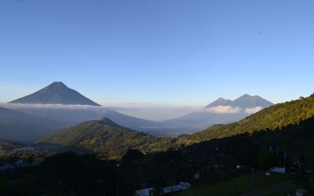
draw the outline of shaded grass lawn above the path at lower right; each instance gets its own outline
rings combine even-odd
[[[289,181],[288,174],[272,172],[269,177],[265,173],[255,173],[255,189]],[[238,196],[252,191],[252,174],[243,174],[214,184],[191,187],[175,196]]]

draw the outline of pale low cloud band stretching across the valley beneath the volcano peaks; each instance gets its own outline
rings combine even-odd
[[[31,113],[31,109],[69,109],[69,110],[86,110],[94,111],[99,115],[103,115],[106,111],[117,111],[125,115],[153,120],[163,121],[189,114],[191,112],[207,112],[216,114],[236,114],[244,112],[254,114],[262,107],[246,108],[233,106],[216,106],[216,107],[187,107],[187,106],[171,106],[171,105],[139,105],[139,104],[120,104],[116,106],[92,106],[92,105],[62,105],[62,104],[23,104],[23,103],[0,103],[0,107]]]

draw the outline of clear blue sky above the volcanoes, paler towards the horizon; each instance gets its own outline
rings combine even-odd
[[[314,92],[313,0],[0,0],[0,102],[53,81],[103,105]]]

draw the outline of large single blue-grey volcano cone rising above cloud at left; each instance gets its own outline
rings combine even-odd
[[[70,89],[62,82],[52,82],[50,85],[33,94],[18,98],[8,103],[101,106],[91,99],[82,96],[76,90]]]

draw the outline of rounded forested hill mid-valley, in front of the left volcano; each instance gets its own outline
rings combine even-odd
[[[76,124],[37,143],[83,147],[101,152],[105,157],[114,158],[122,156],[131,148],[139,149],[144,153],[167,150],[173,147],[174,139],[153,137],[104,118]]]

